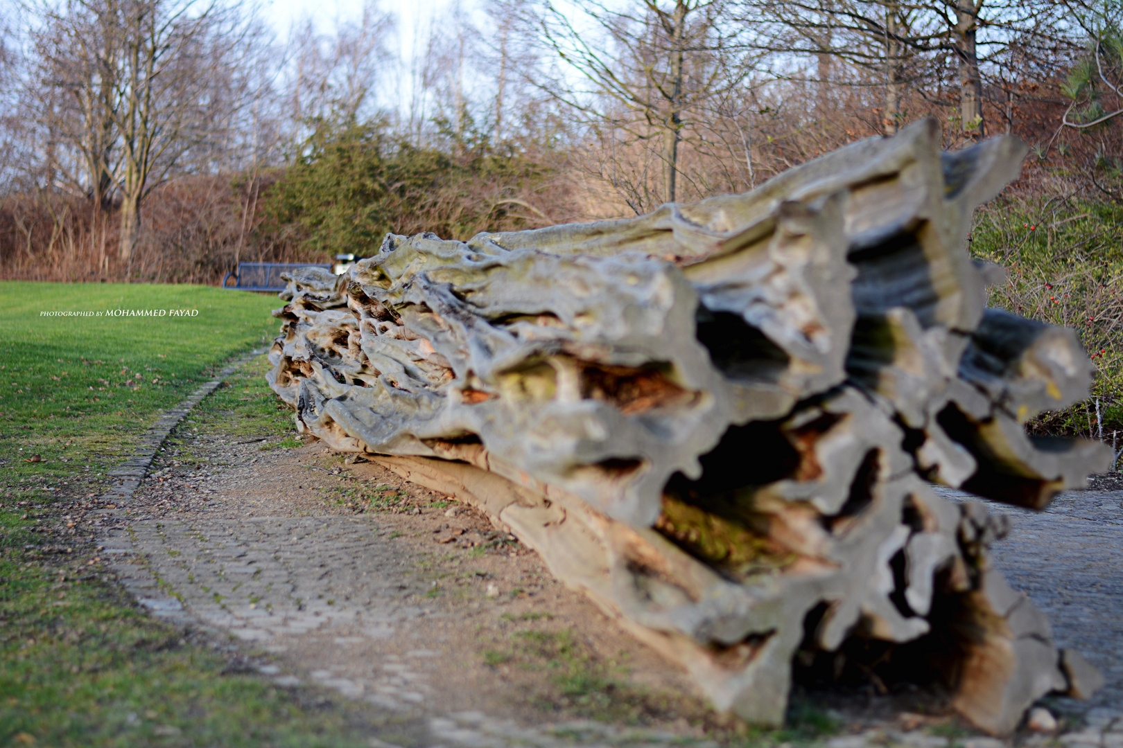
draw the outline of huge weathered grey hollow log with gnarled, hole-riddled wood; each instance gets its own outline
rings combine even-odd
[[[939,144],[921,122],[632,220],[387,236],[292,275],[270,381],[300,431],[510,528],[721,710],[779,723],[794,662],[868,669],[856,643],[884,643],[1008,732],[1095,672],[989,566],[1002,523],[925,479],[1042,508],[1110,450],[1024,434],[1089,364],[986,310],[1001,273],[964,249],[1024,148]]]

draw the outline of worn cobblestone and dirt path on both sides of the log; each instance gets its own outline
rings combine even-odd
[[[276,449],[203,410],[102,523],[102,556],[154,613],[231,637],[247,666],[283,687],[366,702],[383,726],[373,746],[737,739],[683,695],[685,677],[483,517],[373,463],[344,464],[318,444]],[[1090,704],[1050,702],[1077,748],[1123,748],[1121,496],[1067,495],[1056,511],[1020,514],[996,548],[1059,643],[1108,677]],[[948,715],[902,720],[894,709],[907,698],[887,703],[797,700],[795,731],[752,742],[998,746]],[[911,711],[924,709],[917,695]]]

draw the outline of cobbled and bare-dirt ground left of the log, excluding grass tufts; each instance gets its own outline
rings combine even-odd
[[[503,673],[482,647],[531,625],[546,637],[574,626],[592,634],[604,620],[482,517],[381,472],[373,480],[409,495],[403,506],[413,508],[351,514],[309,498],[337,496],[354,481],[322,467],[338,463],[322,447],[261,454],[257,444],[185,438],[197,453],[210,451],[212,467],[157,458],[139,489],[104,516],[102,556],[154,615],[232,637],[277,685],[327,687],[396,715],[396,731],[372,745],[715,745],[685,721],[637,729],[550,714],[518,698],[520,678],[542,674]],[[496,535],[497,547],[472,553],[468,538]],[[439,543],[447,537],[462,543]],[[633,648],[631,665],[657,673],[659,687],[686,687],[622,634],[603,640],[613,653]]]

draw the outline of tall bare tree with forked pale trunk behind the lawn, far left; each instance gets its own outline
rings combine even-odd
[[[119,257],[128,261],[153,187],[192,158],[212,161],[236,113],[254,102],[238,95],[238,71],[257,62],[261,27],[199,0],[66,0],[33,10],[48,142],[76,155],[69,182],[86,179],[95,206],[111,193],[119,201]]]

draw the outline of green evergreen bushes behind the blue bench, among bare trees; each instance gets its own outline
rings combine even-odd
[[[495,155],[471,131],[449,140],[417,148],[382,122],[321,122],[270,190],[263,236],[366,257],[391,232],[467,239],[548,222],[518,197],[545,186],[553,169],[541,159]]]

